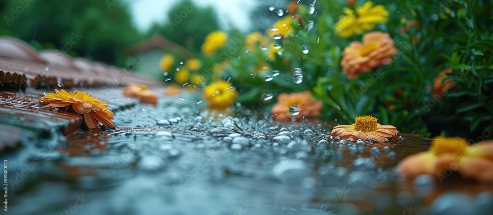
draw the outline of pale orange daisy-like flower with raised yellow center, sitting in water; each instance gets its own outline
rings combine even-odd
[[[354,118],[354,124],[337,125],[332,128],[330,135],[341,139],[372,140],[378,143],[387,142],[399,134],[392,125],[381,125],[377,118],[372,116],[359,116]]]

